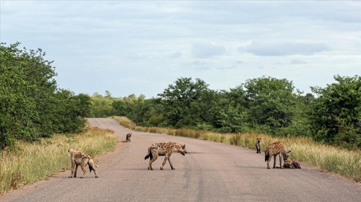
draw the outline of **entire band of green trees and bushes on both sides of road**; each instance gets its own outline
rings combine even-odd
[[[335,75],[327,87],[304,94],[292,81],[262,76],[229,90],[178,78],[156,98],[75,95],[59,89],[53,61],[41,49],[0,44],[0,149],[17,140],[81,132],[85,117],[127,116],[141,126],[220,133],[312,137],[325,144],[361,148],[361,77]]]

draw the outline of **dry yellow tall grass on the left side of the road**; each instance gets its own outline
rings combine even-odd
[[[32,144],[19,141],[0,152],[0,194],[69,168],[69,148],[94,157],[114,149],[117,140],[111,130],[90,128],[86,133],[57,134]]]

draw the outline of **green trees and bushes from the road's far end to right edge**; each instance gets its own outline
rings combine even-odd
[[[310,137],[348,150],[361,149],[361,77],[335,76],[326,88],[295,90],[291,81],[249,79],[228,91],[213,91],[200,80],[180,78],[145,99],[91,97],[98,117],[126,116],[139,126],[206,130],[216,133],[263,133],[273,138]],[[113,112],[108,113],[109,107]],[[102,112],[101,109],[104,109]]]

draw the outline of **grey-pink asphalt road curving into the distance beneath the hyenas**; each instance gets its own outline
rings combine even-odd
[[[48,180],[0,196],[1,202],[360,202],[361,184],[318,171],[267,169],[264,154],[237,146],[135,132],[109,118],[89,119],[91,126],[113,130],[120,140],[132,132],[131,143],[95,157],[99,165],[85,178],[68,178],[70,170]],[[173,153],[164,170],[164,157],[148,170],[148,147],[157,142],[185,144],[187,154]],[[278,160],[278,159],[277,159]],[[273,160],[271,161],[271,163]],[[87,167],[88,169],[88,167]],[[88,170],[89,171],[89,170]],[[78,170],[78,176],[82,174]]]

